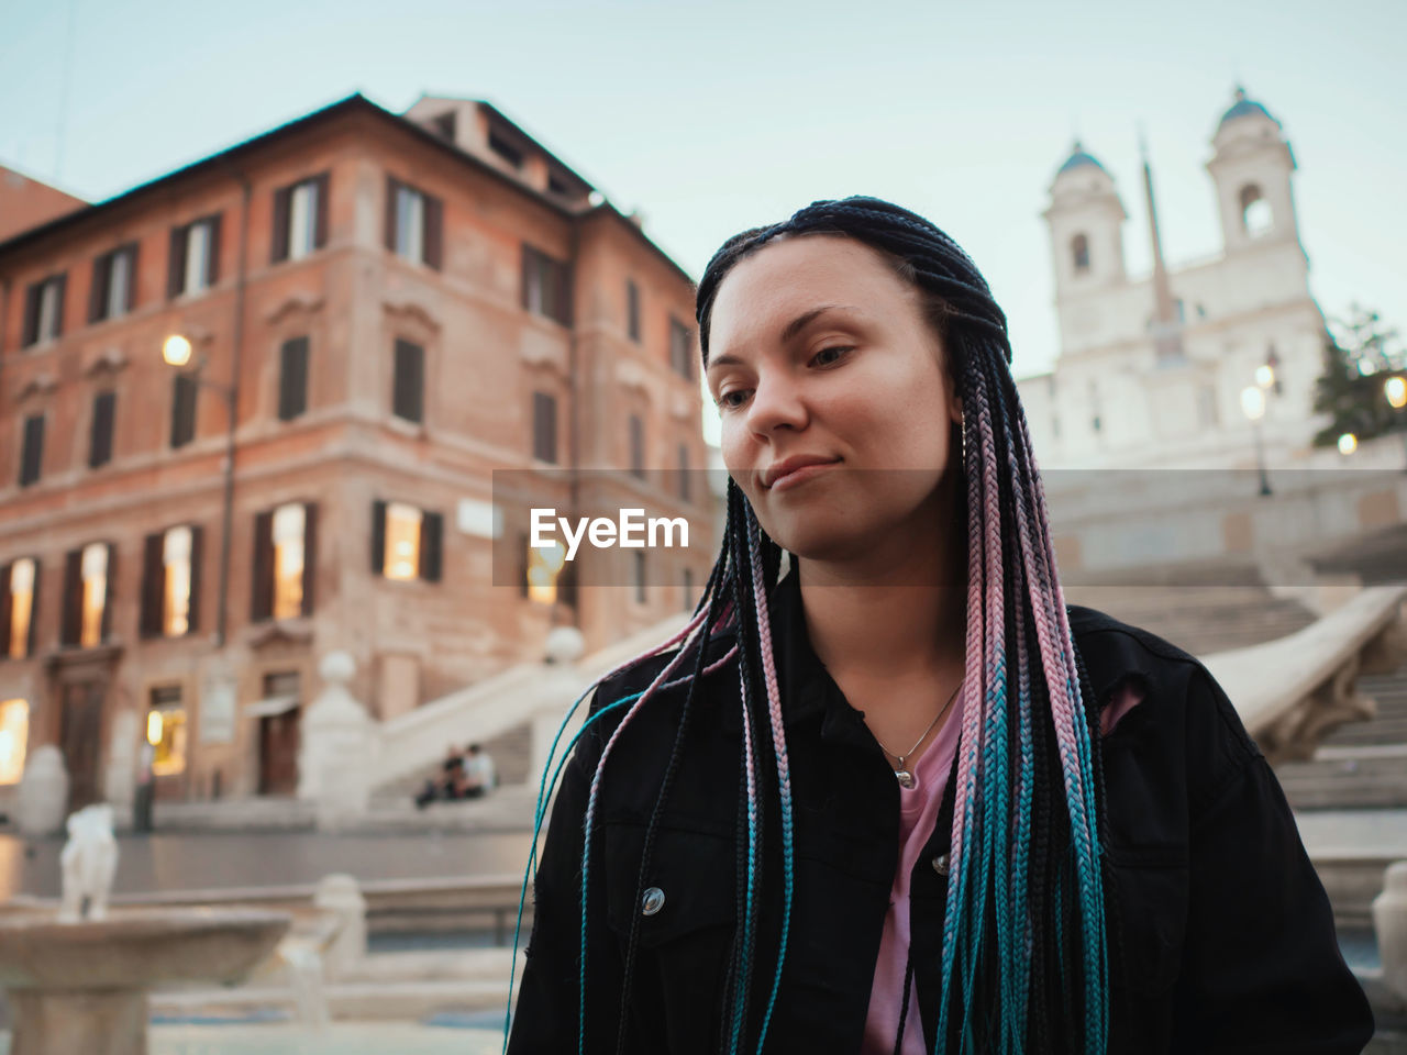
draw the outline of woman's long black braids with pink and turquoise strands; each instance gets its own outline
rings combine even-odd
[[[954,776],[934,1052],[1103,1055],[1110,1017],[1110,938],[1116,952],[1119,942],[1117,913],[1106,913],[1114,900],[1113,875],[1100,838],[1107,833],[1107,821],[1099,703],[1069,629],[1044,488],[1010,374],[1006,316],[967,253],[927,219],[872,197],[815,201],[787,221],[734,235],[713,255],[698,286],[696,318],[705,366],[712,305],[727,273],[777,238],[806,235],[860,241],[879,250],[919,290],[962,397],[968,520],[967,658],[961,689],[965,706]],[[726,512],[722,547],[689,622],[670,641],[608,677],[674,646],[678,651],[643,692],[591,716],[594,722],[606,712],[628,708],[601,753],[585,812],[581,1045],[588,865],[595,805],[612,747],[661,685],[688,682],[678,733],[646,829],[636,889],[639,903],[658,820],[680,755],[688,747],[698,684],[702,675],[733,660],[740,684],[744,764],[737,813],[739,912],[719,1049],[727,1055],[749,1048],[761,1052],[771,1025],[787,961],[795,841],[767,605],[781,565],[781,547],[763,530],[732,478]],[[727,633],[736,634],[734,647],[705,668],[709,641]],[[685,665],[692,667],[692,674],[681,678],[675,671]],[[771,765],[764,765],[767,760]],[[777,795],[775,812],[764,809],[768,792]],[[539,824],[542,814],[539,803]],[[775,833],[764,831],[768,817],[777,819]],[[758,986],[753,961],[764,836],[781,843],[782,913],[775,969]],[[622,1025],[639,941],[637,916],[625,957]],[[905,1011],[908,993],[906,978]],[[749,1024],[758,1021],[750,1010],[756,1000],[765,1002],[765,1007],[754,1035],[749,1034]],[[902,1030],[900,1024],[899,1040]],[[618,1055],[623,1042],[622,1028]],[[584,1049],[578,1051],[584,1055]]]

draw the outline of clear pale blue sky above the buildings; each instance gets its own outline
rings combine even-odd
[[[1285,125],[1311,290],[1407,331],[1407,1],[1078,4],[0,0],[0,163],[103,200],[362,91],[487,98],[695,279],[729,235],[877,194],[951,234],[1010,318],[1058,338],[1040,212],[1078,132],[1151,270],[1216,253],[1203,167],[1240,80]]]

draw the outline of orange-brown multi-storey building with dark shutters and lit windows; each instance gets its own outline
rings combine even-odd
[[[640,226],[477,101],[353,96],[0,242],[0,784],[56,744],[72,806],[127,803],[151,743],[160,799],[291,795],[332,650],[388,720],[553,623],[592,650],[692,605],[691,321]],[[694,544],[577,588],[495,470]]]

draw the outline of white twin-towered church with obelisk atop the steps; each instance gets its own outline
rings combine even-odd
[[[1044,218],[1061,352],[1050,373],[1019,381],[1044,466],[1255,466],[1248,387],[1261,390],[1266,460],[1311,459],[1325,324],[1300,243],[1294,156],[1280,122],[1240,89],[1211,146],[1221,252],[1164,262],[1145,162],[1147,277],[1126,269],[1128,212],[1113,176],[1081,143],[1057,172]]]

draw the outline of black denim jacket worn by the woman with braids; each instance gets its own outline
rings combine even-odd
[[[795,885],[787,961],[768,1052],[857,1052],[899,848],[893,769],[806,636],[796,575],[774,589],[772,637],[791,760]],[[1145,698],[1103,738],[1110,854],[1121,917],[1112,979],[1110,1052],[1349,1055],[1373,1032],[1344,964],[1334,919],[1290,807],[1263,755],[1207,670],[1183,650],[1089,608],[1071,630],[1100,701],[1126,678]],[[732,647],[715,641],[709,663]],[[673,656],[673,653],[670,654]],[[654,657],[604,682],[592,713],[646,688]],[[675,671],[678,677],[681,671]],[[636,903],[644,830],[687,686],[657,692],[606,761],[592,826],[585,1051],[694,1055],[719,1049],[736,913],[734,823],[741,724],[739,674],[704,679],[689,737]],[[535,920],[511,1055],[575,1052],[582,817],[591,776],[620,715],[601,719],[563,769],[533,888]],[[912,876],[912,954],[926,1047],[937,1028],[938,964],[953,784]],[[763,899],[751,1000],[757,1035],[781,926],[775,779],[768,793]],[[622,1020],[623,954],[640,928]],[[757,996],[757,995],[761,996]]]

